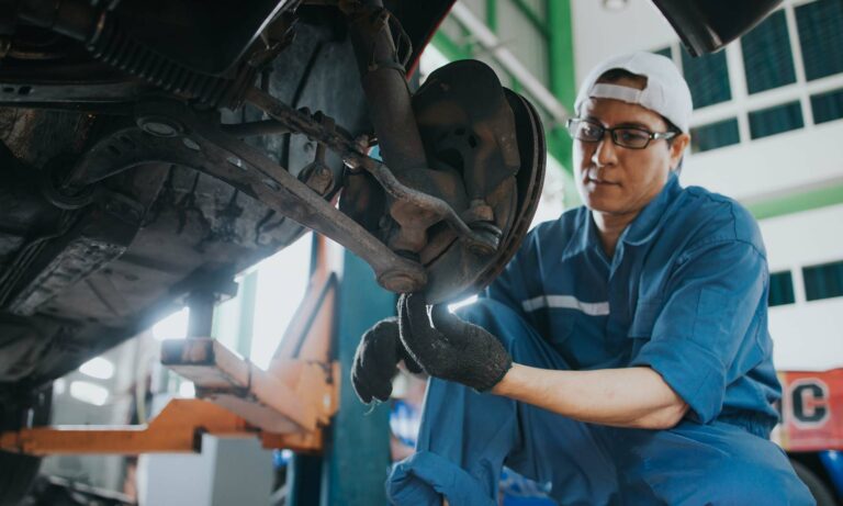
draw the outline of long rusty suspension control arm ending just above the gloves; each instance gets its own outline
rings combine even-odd
[[[259,149],[212,126],[207,119],[196,117],[183,104],[173,102],[138,108],[137,117],[147,128],[124,128],[93,146],[74,171],[76,176],[68,180],[69,192],[154,161],[190,167],[225,181],[347,247],[372,267],[379,283],[387,290],[406,292],[425,285],[426,274],[422,266],[395,255]],[[142,121],[149,117],[158,125],[155,132],[162,132],[166,124],[167,134],[176,131],[177,135],[153,135],[148,128],[150,122]],[[313,122],[310,116],[307,119]],[[318,123],[314,124],[321,128],[318,132],[328,132]]]

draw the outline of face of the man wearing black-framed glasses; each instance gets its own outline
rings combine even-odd
[[[634,86],[623,80],[621,86]],[[638,88],[638,87],[637,87]],[[580,117],[605,127],[637,126],[650,132],[667,132],[661,115],[638,104],[612,99],[591,99],[583,103]],[[653,200],[678,164],[687,136],[653,139],[644,149],[616,146],[606,133],[597,143],[574,140],[577,190],[588,209],[609,215],[637,215]]]

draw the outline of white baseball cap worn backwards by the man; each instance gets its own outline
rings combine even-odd
[[[597,82],[609,70],[622,69],[647,78],[643,90],[626,86]],[[682,132],[688,132],[690,101],[688,83],[670,58],[653,53],[632,53],[604,60],[592,70],[580,87],[580,94],[574,102],[574,111],[588,99],[615,99],[637,103],[657,112],[676,125]]]

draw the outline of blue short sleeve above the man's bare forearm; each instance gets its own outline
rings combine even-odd
[[[650,340],[630,366],[651,367],[688,403],[692,416],[715,419],[741,344],[757,339],[767,276],[764,255],[749,241],[709,241],[683,254]],[[645,311],[641,301],[639,310]]]

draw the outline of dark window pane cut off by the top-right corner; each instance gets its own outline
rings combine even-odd
[[[810,81],[843,71],[843,0],[817,0],[796,8],[805,76]]]

